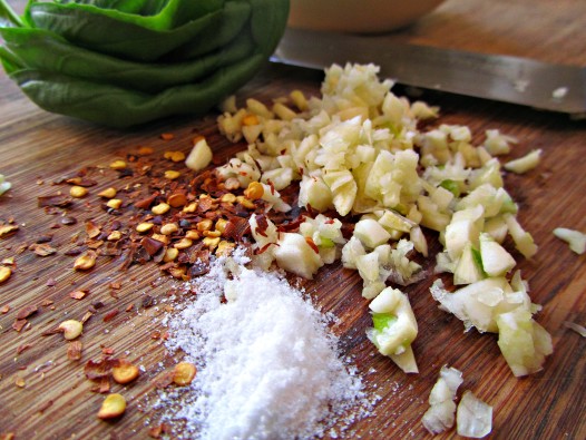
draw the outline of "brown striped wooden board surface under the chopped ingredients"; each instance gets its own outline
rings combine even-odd
[[[23,1],[11,3],[22,7]],[[580,0],[447,1],[397,39],[494,53],[528,56],[546,61],[586,66],[586,3]],[[375,61],[375,60],[373,60]],[[321,75],[271,66],[240,95],[270,100],[302,88],[318,94]],[[586,271],[584,255],[572,253],[555,238],[558,226],[586,231],[584,178],[586,125],[563,115],[539,113],[511,105],[430,94],[424,99],[441,106],[439,123],[466,124],[480,141],[484,130],[498,128],[516,136],[519,145],[510,157],[534,148],[544,151],[539,167],[526,175],[507,174],[506,187],[519,202],[519,219],[539,244],[531,261],[519,267],[529,282],[534,302],[544,305],[537,320],[553,335],[555,353],[545,369],[516,379],[499,353],[496,338],[462,332],[462,324],[438,310],[429,294],[432,277],[406,289],[420,333],[414,342],[420,373],[406,375],[388,359],[375,353],[364,331],[370,325],[367,304],[360,296],[361,281],[334,265],[324,267],[306,287],[326,311],[341,317],[336,327],[344,350],[353,354],[364,382],[377,385],[382,397],[375,414],[355,423],[359,438],[430,438],[420,423],[427,397],[443,364],[463,372],[462,388],[473,391],[494,407],[492,439],[584,439],[586,438],[586,350],[565,321],[586,323]],[[30,104],[6,77],[0,78],[0,173],[13,188],[0,198],[0,221],[13,221],[19,231],[0,241],[0,261],[14,258],[14,273],[0,284],[0,438],[16,439],[143,439],[147,422],[156,423],[150,403],[153,383],[164,366],[175,360],[165,353],[157,335],[164,331],[155,321],[162,307],[145,309],[145,296],[165,297],[169,284],[160,280],[156,265],[135,265],[127,272],[100,257],[90,272],[72,270],[74,257],[65,255],[71,236],[84,234],[84,219],[102,221],[107,214],[91,194],[67,209],[78,219],[64,225],[60,216],[37,206],[38,196],[68,190],[53,185],[82,167],[107,167],[120,154],[149,146],[155,154],[191,148],[194,131],[208,136],[216,156],[226,158],[236,147],[216,133],[215,115],[201,119],[160,121],[140,129],[119,131],[47,114]],[[173,133],[165,141],[162,133]],[[92,168],[100,187],[111,183],[106,170]],[[131,177],[128,184],[141,182]],[[56,227],[59,225],[59,227]],[[56,253],[38,256],[29,245],[51,235]],[[439,245],[429,234],[432,250]],[[432,262],[428,263],[431,267]],[[113,284],[114,283],[114,284]],[[113,289],[116,283],[119,289]],[[87,290],[84,300],[69,293]],[[68,317],[80,319],[91,303],[102,303],[86,323],[82,358],[67,359],[68,344],[60,335],[42,336]],[[38,307],[20,332],[12,329],[26,306]],[[113,311],[119,311],[115,316]],[[105,320],[105,317],[110,320]],[[102,397],[90,391],[84,364],[99,360],[104,350],[126,354],[144,366],[139,380],[127,387],[114,385],[129,400],[123,419],[108,423],[96,418]],[[374,373],[370,372],[374,369]],[[439,438],[456,438],[449,432]]]

